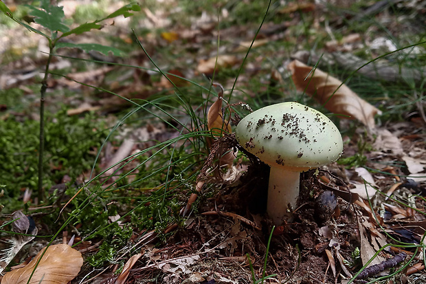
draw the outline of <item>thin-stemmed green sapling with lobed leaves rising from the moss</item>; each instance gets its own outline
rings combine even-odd
[[[40,6],[30,6],[25,5],[30,9],[30,16],[34,17],[34,22],[41,25],[44,29],[37,30],[32,28],[30,25],[23,23],[19,19],[16,19],[8,6],[5,5],[2,1],[0,1],[0,10],[6,16],[10,17],[16,23],[19,23],[23,27],[27,28],[31,32],[35,32],[47,39],[49,41],[49,58],[47,58],[47,63],[45,65],[45,76],[41,81],[41,90],[40,90],[40,131],[39,131],[39,148],[38,148],[38,200],[43,201],[44,199],[44,191],[43,191],[43,154],[44,154],[44,146],[45,146],[45,127],[44,127],[44,102],[45,102],[45,93],[47,90],[47,78],[49,76],[49,65],[54,56],[54,51],[60,47],[76,47],[84,50],[86,52],[91,50],[96,50],[98,52],[102,52],[103,54],[109,54],[112,52],[116,56],[122,55],[122,52],[115,47],[109,47],[105,45],[100,45],[98,43],[65,43],[60,41],[66,36],[70,36],[72,34],[83,34],[85,32],[89,32],[91,30],[100,30],[102,25],[100,23],[106,19],[112,19],[118,16],[130,17],[133,14],[131,11],[139,11],[140,7],[137,3],[130,3],[122,8],[116,10],[115,12],[109,14],[108,16],[93,21],[91,23],[83,23],[79,25],[77,28],[71,28],[67,25],[65,21],[65,14],[63,11],[63,7],[54,6],[50,3],[49,0],[41,0]]]

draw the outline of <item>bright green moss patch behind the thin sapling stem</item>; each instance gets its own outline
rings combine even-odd
[[[6,212],[14,210],[22,188],[37,188],[38,135],[36,120],[15,116],[0,120],[0,176]],[[46,113],[44,188],[60,183],[64,175],[74,180],[88,171],[95,160],[93,151],[104,137],[103,124],[91,113],[84,118],[69,117],[65,109]]]

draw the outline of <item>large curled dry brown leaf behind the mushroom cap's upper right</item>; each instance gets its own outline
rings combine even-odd
[[[306,94],[342,118],[357,119],[369,129],[374,129],[374,116],[381,114],[381,111],[359,98],[348,86],[341,85],[340,80],[297,60],[289,64],[289,69],[299,91],[306,91]]]

